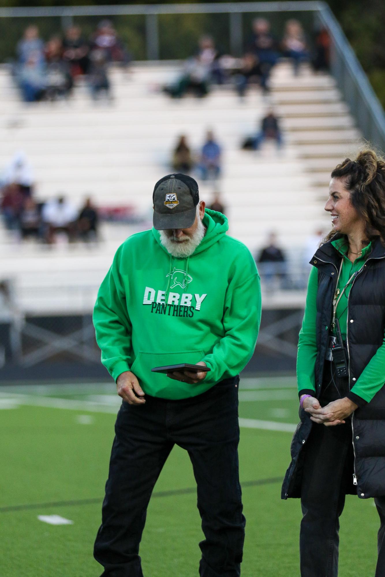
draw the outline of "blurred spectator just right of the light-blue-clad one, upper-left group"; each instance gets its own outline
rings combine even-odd
[[[73,86],[68,62],[63,60],[63,44],[61,38],[53,36],[48,40],[45,48],[47,62],[46,97],[55,100],[61,96],[68,96]]]

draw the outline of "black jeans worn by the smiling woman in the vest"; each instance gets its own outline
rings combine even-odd
[[[335,384],[331,379],[331,364],[326,361],[321,406],[342,398],[349,390],[347,379],[334,377],[334,381]],[[357,494],[353,485],[351,419],[346,419],[345,425],[332,427],[314,423],[305,451],[301,487],[301,577],[337,577],[339,516],[346,494]],[[380,515],[375,577],[385,577],[385,497],[376,498],[375,503]]]

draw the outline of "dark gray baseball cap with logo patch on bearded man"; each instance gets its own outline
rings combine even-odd
[[[154,187],[154,228],[189,228],[199,203],[197,182],[186,174],[167,174]]]

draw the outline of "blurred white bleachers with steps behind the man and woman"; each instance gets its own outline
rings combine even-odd
[[[289,255],[298,253],[324,215],[330,171],[354,153],[360,134],[334,80],[289,63],[275,67],[271,94],[256,87],[244,101],[230,87],[214,87],[204,99],[171,100],[160,87],[177,76],[178,63],[137,63],[132,72],[111,71],[113,102],[94,103],[85,85],[69,102],[20,102],[7,70],[0,70],[0,169],[23,149],[36,176],[36,196],[64,193],[78,207],[129,205],[151,223],[154,183],[171,172],[171,150],[186,134],[197,151],[205,131],[223,146],[218,182],[230,234],[256,252],[275,230]],[[268,107],[281,117],[285,145],[267,143],[241,151]],[[199,179],[198,179],[199,180]],[[210,203],[213,187],[199,182]],[[29,314],[89,312],[119,243],[138,226],[103,224],[98,246],[18,243],[0,224],[0,279],[16,286],[17,303]]]

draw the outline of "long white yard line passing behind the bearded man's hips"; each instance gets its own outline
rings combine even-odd
[[[116,406],[111,406],[102,402],[91,402],[88,400],[72,400],[72,399],[58,399],[53,397],[41,397],[34,395],[6,395],[0,393],[3,398],[7,396],[14,404],[34,406],[34,407],[48,407],[51,409],[69,409],[73,411],[88,411],[89,413],[109,413],[117,414],[120,402],[117,398]],[[246,429],[264,429],[273,431],[283,431],[292,433],[296,430],[296,425],[291,423],[280,423],[276,421],[260,421],[259,419],[239,419],[240,426]]]

